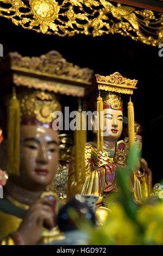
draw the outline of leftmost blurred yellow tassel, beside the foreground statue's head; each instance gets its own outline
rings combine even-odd
[[[19,175],[20,169],[20,102],[15,92],[8,109],[8,174]]]

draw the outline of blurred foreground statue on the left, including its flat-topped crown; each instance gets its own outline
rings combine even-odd
[[[59,60],[63,65],[58,66]],[[32,58],[9,53],[0,66],[4,72],[1,84],[5,85],[1,124],[9,175],[0,204],[0,245],[63,239],[57,227],[57,195],[47,191],[59,162],[59,132],[53,129],[53,113],[61,111],[60,94],[84,96],[92,71],[67,63],[56,51]],[[85,72],[86,78],[82,78]]]

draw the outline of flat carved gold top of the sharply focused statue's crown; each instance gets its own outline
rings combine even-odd
[[[138,82],[137,80],[123,77],[119,72],[115,72],[110,76],[96,75],[96,81],[99,90],[124,94],[133,94]]]

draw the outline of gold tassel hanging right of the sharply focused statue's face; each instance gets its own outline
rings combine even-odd
[[[129,139],[129,149],[135,143],[135,129],[134,129],[134,106],[133,102],[128,102],[128,139]]]

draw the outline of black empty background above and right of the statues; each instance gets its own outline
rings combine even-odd
[[[143,125],[142,156],[152,170],[153,183],[163,178],[163,57],[159,57],[158,47],[112,34],[96,38],[43,35],[17,27],[2,17],[0,32],[4,56],[9,51],[17,51],[22,56],[40,56],[57,50],[68,62],[89,67],[95,74],[110,75],[118,71],[124,77],[139,80],[133,102],[135,120]],[[128,99],[128,96],[124,99],[124,115],[127,115]]]

